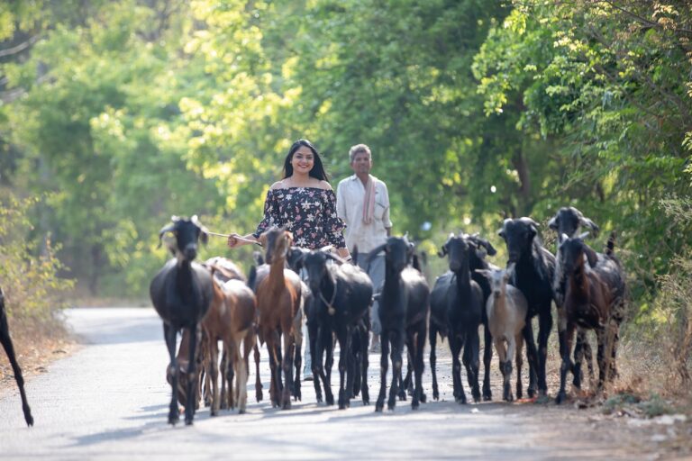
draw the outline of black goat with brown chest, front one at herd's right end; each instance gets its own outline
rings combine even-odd
[[[625,277],[620,261],[615,258],[615,235],[607,243],[605,255],[597,255],[583,240],[562,236],[560,259],[567,277],[564,317],[560,392],[556,402],[564,402],[565,378],[570,368],[569,353],[577,326],[596,330],[598,341],[598,388],[614,377],[615,338],[624,312]],[[591,267],[588,268],[587,264]],[[577,370],[578,374],[578,370]]]

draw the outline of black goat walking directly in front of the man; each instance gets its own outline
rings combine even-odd
[[[391,345],[392,384],[387,408],[394,410],[397,385],[401,380],[404,342],[414,363],[414,395],[411,407],[418,408],[423,398],[423,348],[430,312],[430,288],[420,271],[407,267],[413,256],[413,244],[405,237],[389,237],[387,243],[370,251],[374,258],[385,251],[385,283],[379,296],[379,319],[382,323],[380,343],[380,388],[375,411],[382,411],[387,393],[387,354]]]

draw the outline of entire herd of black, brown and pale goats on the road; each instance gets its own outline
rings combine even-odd
[[[421,272],[414,245],[406,237],[389,237],[369,253],[368,258],[373,258],[384,252],[386,261],[384,284],[373,287],[356,261],[346,263],[326,249],[292,246],[291,233],[276,227],[260,236],[259,244],[265,253],[256,256],[256,266],[250,268],[247,278],[226,258],[211,258],[199,264],[195,262],[197,245],[200,240],[206,242],[207,230],[196,216],[174,216],[171,221],[159,231],[159,241],[168,233],[172,235],[166,243],[174,258],[168,260],[150,285],[151,302],[163,320],[170,360],[170,424],[179,420],[178,402],[185,407],[186,424],[192,424],[203,396],[212,415],[222,408],[244,412],[251,351],[255,359],[255,397],[261,401],[259,344],[266,344],[269,352],[270,401],[274,407],[290,408],[292,399],[301,399],[304,322],[317,402],[323,402],[324,395],[327,404],[334,403],[331,375],[338,341],[339,408],[349,407],[351,399],[359,394],[362,402],[368,404],[369,309],[375,299],[382,324],[376,411],[383,410],[387,397],[390,359],[387,408],[394,410],[396,400],[405,400],[406,393],[411,395],[413,409],[425,402],[422,380],[426,337],[430,342],[434,400],[440,397],[436,375],[438,336],[446,338],[450,346],[456,402],[467,402],[461,363],[474,402],[492,399],[492,344],[499,357],[505,401],[514,399],[513,357],[516,398],[522,398],[524,393],[524,343],[529,365],[528,396],[546,395],[552,303],[557,306],[561,357],[556,402],[566,399],[568,372],[573,375],[573,385],[580,388],[583,361],[586,360],[593,377],[586,330],[596,331],[596,388],[602,388],[617,374],[615,356],[626,298],[624,270],[614,254],[614,234],[604,253],[591,249],[585,241],[589,232],[580,232],[588,228],[596,234],[598,227],[574,207],[561,208],[549,222],[558,235],[556,255],[537,238],[535,221],[506,219],[499,231],[508,255],[505,268],[487,261],[487,256],[496,254],[487,240],[478,235],[451,234],[439,252],[441,258],[448,258],[449,271],[437,277],[432,290]],[[32,425],[3,301],[0,291],[0,339],[20,387],[25,420]],[[536,315],[538,348],[532,326]],[[478,384],[481,325],[485,339],[482,389]],[[176,350],[180,331],[182,339]],[[219,341],[223,344],[222,357]],[[408,363],[405,377],[404,352]]]

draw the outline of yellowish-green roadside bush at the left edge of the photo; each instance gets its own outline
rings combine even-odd
[[[59,245],[53,247],[50,238],[41,240],[32,232],[29,216],[39,203],[0,189],[0,286],[10,318],[50,321],[60,307],[60,294],[73,285],[58,276],[64,268],[56,257]]]

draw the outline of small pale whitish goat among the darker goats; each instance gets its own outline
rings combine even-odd
[[[477,269],[479,274],[487,276],[492,295],[487,298],[487,325],[493,337],[493,343],[500,359],[500,372],[503,376],[503,399],[514,400],[512,395],[512,357],[516,357],[516,393],[522,394],[522,348],[524,347],[524,323],[528,303],[519,289],[508,285],[514,264],[507,269]],[[505,347],[506,342],[506,347]]]

